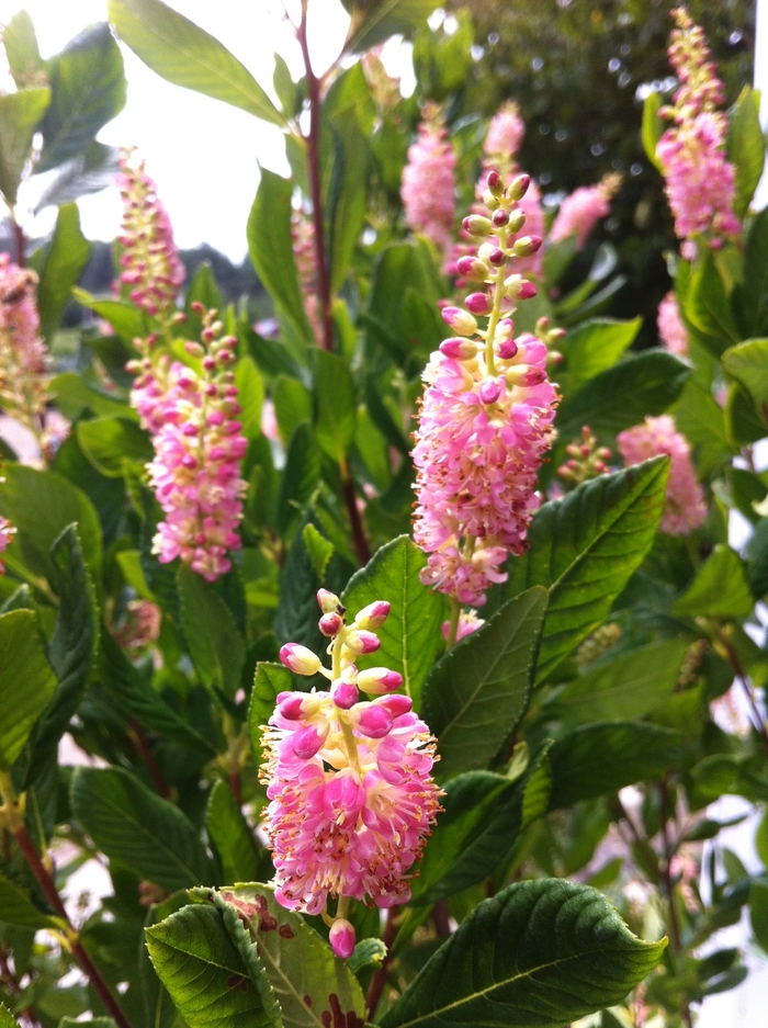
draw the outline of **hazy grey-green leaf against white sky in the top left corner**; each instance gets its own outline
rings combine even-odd
[[[86,149],[125,106],[123,55],[106,22],[83,30],[46,61],[50,105],[39,126],[35,171],[50,171]]]

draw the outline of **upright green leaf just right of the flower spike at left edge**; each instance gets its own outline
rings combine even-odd
[[[77,284],[88,263],[90,252],[91,245],[80,231],[77,204],[60,206],[37,290],[41,331],[45,339],[53,339],[59,327],[64,308],[71,297],[72,286]]]

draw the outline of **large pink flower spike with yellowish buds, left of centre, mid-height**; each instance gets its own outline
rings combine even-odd
[[[203,320],[203,344],[187,343],[196,366],[166,354],[153,360],[150,338],[144,359],[128,364],[138,372],[131,403],[153,433],[155,460],[147,471],[165,513],[153,553],[163,564],[180,557],[215,581],[231,567],[228,551],[241,545],[237,529],[247,484],[240,460],[248,441],[237,420],[240,406],[229,370],[237,341],[222,336],[216,310],[202,304],[193,310]]]

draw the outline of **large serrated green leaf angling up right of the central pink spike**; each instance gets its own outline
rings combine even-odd
[[[537,680],[603,622],[651,549],[664,510],[668,461],[655,457],[585,482],[537,511],[531,549],[509,568],[508,591],[550,591]]]

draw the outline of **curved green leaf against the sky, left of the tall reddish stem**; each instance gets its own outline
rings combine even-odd
[[[248,217],[248,252],[264,286],[303,339],[313,339],[304,312],[291,237],[293,183],[261,169],[261,181]]]

